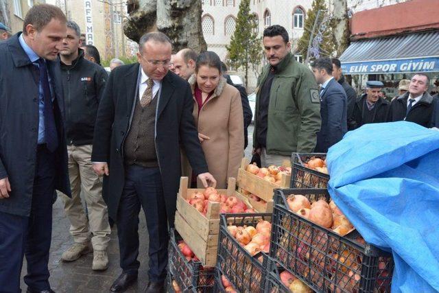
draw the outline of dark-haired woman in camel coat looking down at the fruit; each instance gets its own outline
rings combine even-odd
[[[217,180],[217,188],[225,189],[229,177],[237,178],[244,156],[241,96],[222,77],[221,60],[211,51],[198,56],[189,84],[194,103],[193,118],[209,172]],[[190,167],[184,173],[190,175]],[[198,182],[198,188],[201,187]]]

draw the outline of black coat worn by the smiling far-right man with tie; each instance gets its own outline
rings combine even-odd
[[[410,121],[420,126],[429,127],[431,124],[431,114],[434,110],[434,101],[433,97],[427,92],[423,94],[420,98],[419,102],[414,104],[410,112],[405,117],[405,113],[407,112],[407,99],[410,93],[407,92],[403,95],[400,95],[390,104],[390,111],[387,118],[387,121]]]

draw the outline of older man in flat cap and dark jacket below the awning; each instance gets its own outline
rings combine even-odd
[[[366,93],[355,102],[352,129],[368,123],[382,123],[387,119],[390,103],[379,96],[384,84],[379,81],[366,82]]]

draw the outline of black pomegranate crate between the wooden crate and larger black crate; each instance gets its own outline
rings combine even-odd
[[[271,213],[230,213],[220,215],[219,241],[216,268],[233,284],[237,292],[264,292],[268,256],[258,253],[252,257],[237,240],[228,233],[228,224],[256,226],[259,220],[271,222]],[[261,261],[259,260],[261,258]]]

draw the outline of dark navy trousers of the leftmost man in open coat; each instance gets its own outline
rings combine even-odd
[[[24,280],[29,290],[49,290],[49,249],[54,196],[54,154],[38,145],[29,217],[0,212],[0,292],[17,292],[20,288],[23,256],[27,260]],[[14,187],[11,186],[11,189]],[[8,237],[6,237],[8,235]]]

